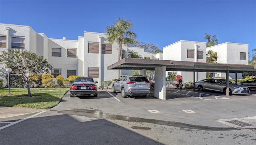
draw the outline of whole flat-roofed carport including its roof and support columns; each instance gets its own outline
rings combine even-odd
[[[108,70],[154,70],[155,71],[155,97],[166,99],[166,71],[194,72],[194,91],[196,72],[225,72],[228,80],[229,73],[256,73],[256,66],[241,64],[217,64],[202,62],[186,62],[172,60],[148,60],[137,58],[124,58],[110,66]],[[229,96],[229,84],[226,83],[226,96]]]

